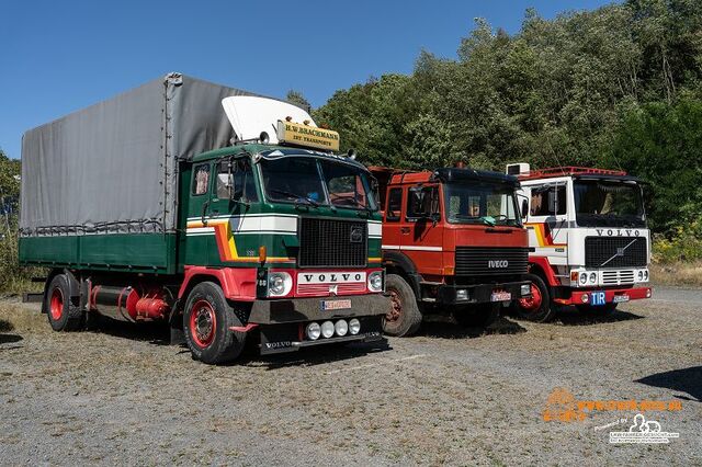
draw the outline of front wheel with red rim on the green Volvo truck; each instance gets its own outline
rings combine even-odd
[[[246,343],[245,332],[230,331],[241,326],[222,288],[213,282],[197,284],[185,303],[183,330],[193,358],[217,365],[236,360]]]

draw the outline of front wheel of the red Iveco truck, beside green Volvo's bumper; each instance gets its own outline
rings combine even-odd
[[[421,326],[421,311],[412,287],[397,274],[387,274],[385,289],[390,296],[390,309],[383,319],[383,331],[389,335],[411,335]]]

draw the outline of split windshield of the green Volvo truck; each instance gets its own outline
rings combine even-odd
[[[260,166],[270,201],[376,209],[369,175],[360,168],[313,157],[261,159]]]

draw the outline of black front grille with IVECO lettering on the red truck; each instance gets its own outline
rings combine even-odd
[[[525,274],[526,248],[456,247],[456,275]]]

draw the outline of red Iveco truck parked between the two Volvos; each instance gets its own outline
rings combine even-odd
[[[424,312],[449,310],[483,327],[529,297],[526,230],[514,176],[462,168],[370,168],[383,206],[383,264],[392,307],[384,330],[416,332]]]

